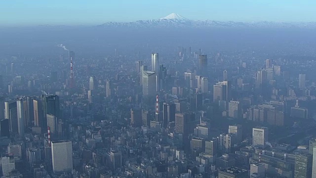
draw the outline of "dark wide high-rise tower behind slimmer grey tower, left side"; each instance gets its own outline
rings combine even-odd
[[[43,113],[43,129],[46,130],[47,127],[47,114],[52,114],[55,117],[60,117],[59,108],[59,96],[57,95],[41,95],[42,101],[42,113]]]

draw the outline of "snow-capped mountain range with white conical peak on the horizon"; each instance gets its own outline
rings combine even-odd
[[[154,20],[137,20],[134,22],[107,22],[98,27],[103,28],[316,28],[316,22],[234,22],[215,20],[190,20],[177,13],[171,13]]]

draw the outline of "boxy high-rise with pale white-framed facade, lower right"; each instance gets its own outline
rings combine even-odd
[[[268,141],[269,129],[266,127],[252,128],[252,145],[264,148]]]

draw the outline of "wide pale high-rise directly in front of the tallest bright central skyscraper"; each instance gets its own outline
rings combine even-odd
[[[143,71],[143,95],[156,95],[156,75],[155,71]]]

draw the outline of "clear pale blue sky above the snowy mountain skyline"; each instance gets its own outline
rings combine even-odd
[[[316,0],[0,0],[0,26],[93,25],[158,19],[316,21]]]

